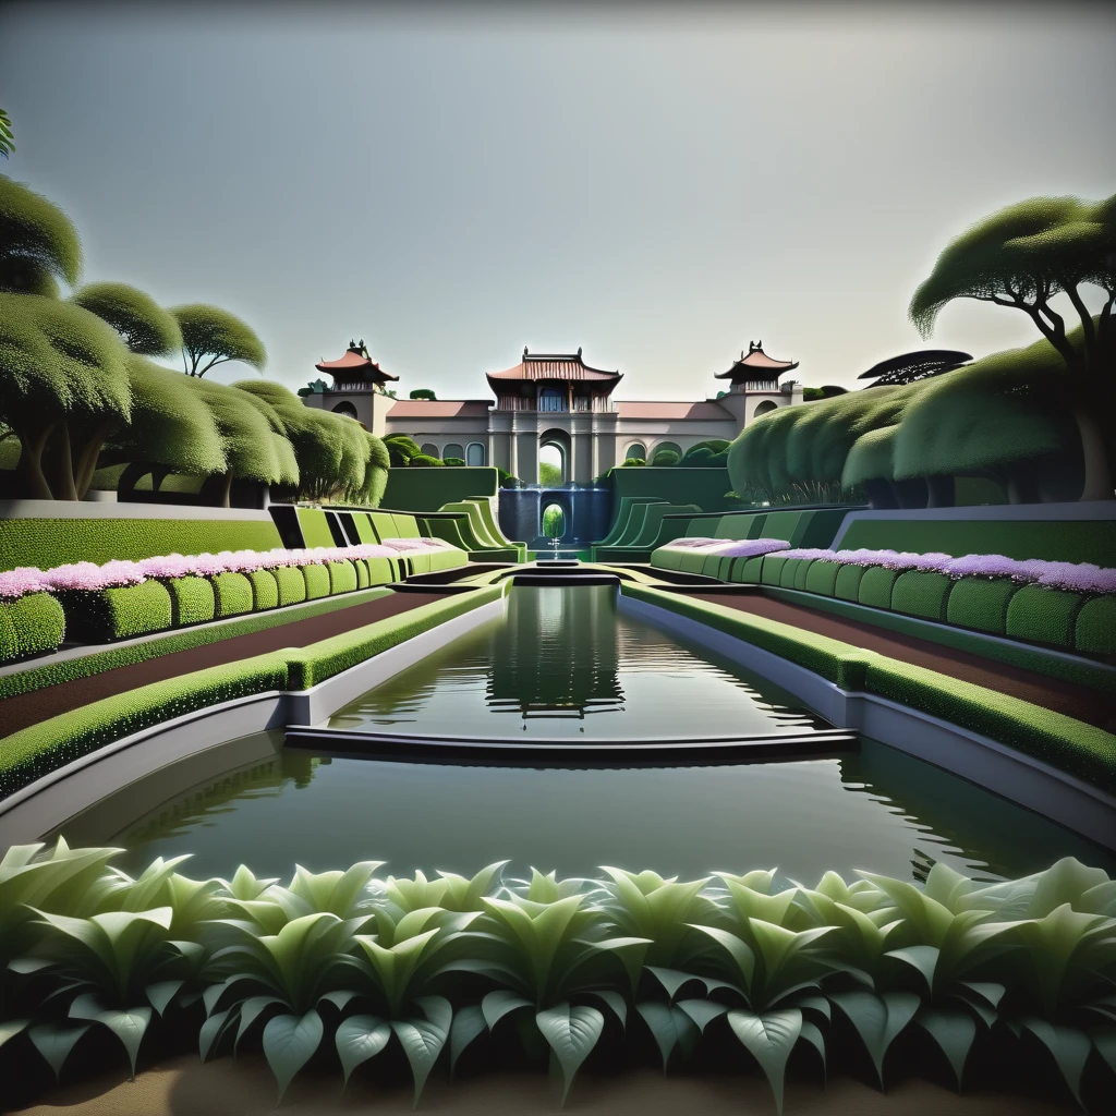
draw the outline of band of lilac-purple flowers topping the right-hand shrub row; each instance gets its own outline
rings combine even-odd
[[[762,541],[762,540],[760,540]],[[1008,577],[1020,585],[1042,585],[1074,593],[1116,593],[1116,569],[1089,562],[1043,561],[1041,558],[1006,558],[1003,555],[912,554],[897,550],[792,549],[780,557],[812,558],[849,566],[883,566],[885,569],[925,570],[951,578]]]

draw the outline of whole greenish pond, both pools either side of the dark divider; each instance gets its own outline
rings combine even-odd
[[[432,734],[483,722],[527,739],[825,727],[762,680],[617,615],[603,588],[517,588],[502,620],[334,722]],[[607,864],[687,877],[778,867],[805,883],[828,868],[920,879],[944,860],[1002,878],[1068,855],[1116,874],[1116,858],[1083,838],[872,740],[781,762],[570,770],[330,758],[261,733],[121,788],[61,833],[71,845],[124,846],[132,870],[193,853],[194,876],[229,876],[241,862],[289,876],[296,863],[324,870],[359,859],[395,874],[471,874],[510,858],[518,875]]]

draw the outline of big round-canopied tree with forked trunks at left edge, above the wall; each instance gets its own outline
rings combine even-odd
[[[0,294],[0,422],[19,437],[25,496],[76,500],[88,487],[98,432],[131,415],[126,356],[116,331],[79,306]]]

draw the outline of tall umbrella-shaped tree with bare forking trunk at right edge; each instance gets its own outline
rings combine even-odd
[[[1081,286],[1106,292],[1094,318]],[[1065,295],[1079,319],[1075,345],[1051,300]],[[1066,371],[1085,461],[1081,499],[1112,499],[1106,439],[1116,412],[1116,195],[1101,202],[1031,198],[978,222],[953,240],[915,291],[911,319],[929,336],[941,309],[972,298],[1027,314]]]

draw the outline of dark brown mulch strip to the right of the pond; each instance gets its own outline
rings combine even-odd
[[[1012,698],[1020,698],[1033,705],[1065,713],[1067,716],[1113,730],[1116,721],[1116,700],[1089,686],[1051,679],[1036,671],[1027,671],[1007,663],[984,658],[970,652],[954,651],[915,636],[888,632],[860,620],[845,619],[830,613],[816,612],[804,605],[792,605],[759,594],[730,596],[714,593],[687,593],[687,597],[710,604],[737,608],[781,624],[816,632],[818,635],[850,643],[854,647],[875,651],[901,662],[925,666],[953,679],[972,682],[989,690],[997,690]]]

